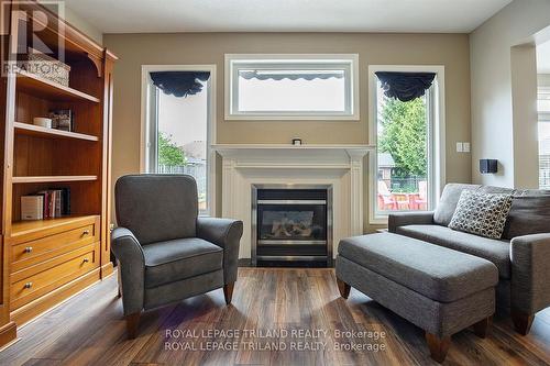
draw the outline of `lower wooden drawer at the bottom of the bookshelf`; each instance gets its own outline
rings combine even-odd
[[[11,275],[11,309],[48,293],[99,267],[99,242]]]

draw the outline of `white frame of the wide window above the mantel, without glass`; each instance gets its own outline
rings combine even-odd
[[[276,67],[277,69],[345,69],[345,111],[238,111],[239,69]],[[226,54],[226,120],[316,120],[359,121],[359,54]]]

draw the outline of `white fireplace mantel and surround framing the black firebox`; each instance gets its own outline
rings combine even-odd
[[[363,234],[363,159],[371,145],[212,145],[222,157],[222,217],[242,220],[239,258],[251,257],[253,185],[329,185],[333,255],[341,239]]]

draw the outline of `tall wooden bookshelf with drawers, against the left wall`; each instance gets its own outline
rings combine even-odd
[[[36,2],[8,3],[19,12],[11,12],[10,33],[2,35],[9,45],[2,48],[2,67],[7,62],[18,67],[0,84],[6,101],[0,107],[6,121],[0,126],[0,346],[15,336],[18,325],[112,273],[108,218],[116,56]],[[47,22],[33,19],[36,10]],[[70,66],[68,86],[29,73],[19,67],[25,55],[8,53],[33,42],[23,31],[30,22],[43,24],[40,40],[56,55],[64,53],[59,60]],[[72,131],[33,124],[53,110],[72,111]],[[70,191],[70,215],[21,221],[21,197],[52,189]]]

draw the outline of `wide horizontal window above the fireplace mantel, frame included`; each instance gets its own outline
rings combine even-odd
[[[358,55],[226,55],[228,120],[359,120]]]

